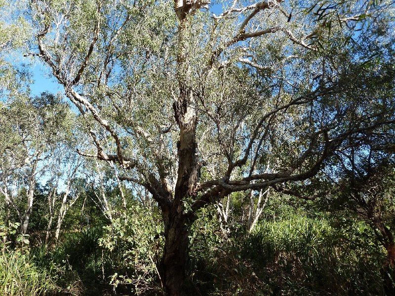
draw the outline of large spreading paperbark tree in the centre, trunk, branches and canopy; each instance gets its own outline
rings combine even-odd
[[[391,44],[385,1],[29,4],[31,55],[63,85],[96,147],[78,152],[117,163],[120,180],[158,202],[169,295],[186,293],[189,229],[202,207],[309,183],[336,150],[362,147],[358,139],[381,137],[394,120],[391,84],[380,84],[380,100],[369,84],[393,81],[389,50],[377,50]],[[379,40],[374,69],[355,40]]]

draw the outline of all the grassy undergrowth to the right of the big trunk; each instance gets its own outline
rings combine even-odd
[[[373,233],[325,219],[262,221],[223,240],[206,232],[191,248],[191,275],[202,295],[391,295],[394,272]]]

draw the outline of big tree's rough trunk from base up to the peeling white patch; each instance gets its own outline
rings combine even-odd
[[[178,179],[171,206],[162,207],[165,244],[160,262],[160,276],[170,296],[183,296],[186,282],[186,260],[189,244],[189,221],[184,202],[192,197],[197,184],[196,110],[191,90],[181,89],[174,111],[180,127],[178,145]]]

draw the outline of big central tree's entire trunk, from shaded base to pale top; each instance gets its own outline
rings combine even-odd
[[[191,221],[188,221],[188,216],[184,213],[184,203],[195,197],[197,186],[197,98],[188,80],[186,44],[189,28],[185,19],[185,7],[180,3],[182,2],[175,2],[176,11],[182,10],[179,13],[177,53],[179,96],[173,105],[174,117],[180,129],[177,143],[178,176],[171,205],[161,207],[165,244],[159,273],[165,291],[170,296],[186,295],[186,262]]]

